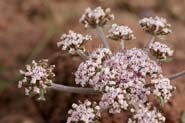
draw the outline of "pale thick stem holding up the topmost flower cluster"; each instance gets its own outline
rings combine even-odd
[[[106,37],[105,37],[105,34],[104,34],[102,28],[99,27],[99,26],[96,27],[96,32],[97,32],[97,35],[100,37],[100,39],[101,39],[101,41],[102,41],[102,43],[103,43],[103,46],[104,46],[105,48],[110,49],[109,44],[108,44],[108,42],[107,42],[107,40],[106,40]]]

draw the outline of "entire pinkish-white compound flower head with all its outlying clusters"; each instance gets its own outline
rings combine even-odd
[[[90,90],[102,94],[99,103],[85,100],[83,103],[73,104],[68,112],[70,116],[67,123],[99,122],[102,110],[107,110],[109,113],[130,111],[133,117],[128,123],[164,123],[165,117],[155,107],[152,108],[148,96],[153,94],[162,98],[165,103],[172,96],[175,87],[170,84],[169,78],[164,77],[160,60],[172,56],[173,51],[165,44],[154,42],[154,38],[144,49],[124,49],[124,40],[134,39],[134,34],[127,26],[113,24],[108,37],[120,41],[120,46],[124,49],[113,53],[100,28],[113,18],[110,9],[104,10],[101,7],[94,10],[86,9],[80,22],[85,28],[98,27],[96,31],[106,46],[94,49],[89,56],[83,52],[82,47],[86,41],[91,40],[89,35],[83,36],[69,31],[68,34],[63,34],[61,41],[57,43],[62,50],[67,50],[70,54],[78,53],[84,58],[75,72],[75,83],[94,89],[86,89],[85,92]],[[139,24],[153,37],[171,33],[170,24],[160,17],[144,18]],[[151,59],[148,49],[160,60]],[[20,71],[24,78],[19,81],[19,87],[25,88],[26,95],[37,95],[39,99],[43,99],[47,87],[53,85],[51,87],[54,89],[53,69],[54,66],[48,65],[47,60],[38,63],[33,61],[31,65],[26,66],[25,71]],[[66,90],[62,86],[58,88]],[[67,89],[71,89],[70,92],[78,90],[81,92],[81,88]]]

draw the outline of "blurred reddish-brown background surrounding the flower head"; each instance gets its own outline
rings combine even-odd
[[[168,76],[185,69],[185,0],[0,0],[0,123],[65,123],[73,102],[86,98],[98,100],[92,95],[49,90],[47,100],[38,102],[25,96],[23,89],[17,89],[19,69],[33,59],[48,58],[58,52],[56,43],[62,33],[74,30],[91,34],[94,40],[86,49],[91,51],[99,46],[94,30],[84,30],[78,23],[87,7],[97,6],[111,8],[115,15],[113,23],[128,25],[134,30],[136,40],[127,42],[127,48],[142,47],[149,38],[141,30],[139,19],[148,16],[166,18],[173,33],[158,40],[172,47],[175,55],[173,61],[162,64],[164,73]],[[110,25],[105,27],[105,33]],[[117,48],[114,42],[111,47]],[[65,52],[53,58],[55,82],[74,85],[73,73],[81,61]],[[161,110],[167,123],[184,123],[185,78],[172,83],[177,89]],[[128,116],[125,112],[103,113],[102,122],[125,123]]]

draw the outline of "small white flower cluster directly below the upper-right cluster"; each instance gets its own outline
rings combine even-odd
[[[154,42],[150,46],[151,53],[158,59],[167,59],[173,55],[173,50],[170,49],[166,44],[160,42]]]

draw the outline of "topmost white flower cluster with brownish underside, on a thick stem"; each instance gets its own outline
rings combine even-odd
[[[97,26],[104,26],[108,21],[113,20],[114,15],[110,13],[110,9],[102,9],[97,7],[95,9],[87,8],[85,13],[80,19],[85,28],[92,27],[96,28]]]

